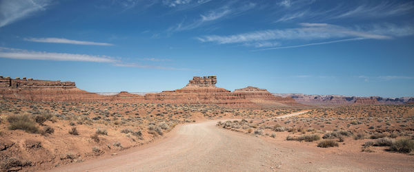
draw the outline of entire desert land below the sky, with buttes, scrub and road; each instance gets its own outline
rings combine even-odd
[[[414,105],[305,105],[195,76],[102,96],[0,78],[1,171],[413,171]]]

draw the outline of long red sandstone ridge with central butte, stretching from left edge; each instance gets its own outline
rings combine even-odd
[[[0,76],[0,95],[6,98],[43,101],[100,101],[119,103],[177,103],[215,104],[225,107],[302,107],[293,98],[282,98],[270,94],[266,89],[246,87],[230,92],[216,87],[216,76],[194,76],[186,87],[173,91],[140,96],[120,92],[114,96],[103,96],[86,92],[74,82],[60,80],[34,80],[32,78],[10,78]]]

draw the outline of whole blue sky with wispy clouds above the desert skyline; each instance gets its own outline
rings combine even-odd
[[[152,92],[414,96],[414,1],[0,1],[0,75]]]

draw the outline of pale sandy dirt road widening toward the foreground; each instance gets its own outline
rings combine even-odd
[[[215,126],[216,122],[181,125],[144,147],[52,171],[378,171],[393,164],[377,162],[375,158],[369,162],[369,157],[358,160],[353,155],[321,154],[321,148],[300,148],[298,142],[272,142],[221,129]],[[404,157],[400,158],[404,163],[413,162],[413,158]],[[393,170],[413,169],[411,165]]]

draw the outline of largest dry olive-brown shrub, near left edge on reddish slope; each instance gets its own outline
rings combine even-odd
[[[8,116],[8,122],[10,122],[9,129],[16,130],[21,129],[28,133],[37,133],[39,128],[28,115],[19,115],[19,116]]]

